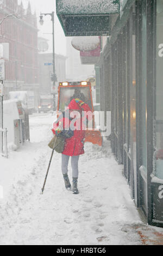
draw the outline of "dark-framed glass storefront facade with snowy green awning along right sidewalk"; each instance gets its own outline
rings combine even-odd
[[[100,10],[95,0],[94,13],[85,1],[79,8],[64,1],[64,9],[60,2],[57,14],[66,35],[108,35],[96,70],[101,110],[111,111],[112,153],[123,164],[140,214],[163,227],[163,1],[103,0],[106,8]],[[91,30],[84,23],[88,16],[96,23]]]

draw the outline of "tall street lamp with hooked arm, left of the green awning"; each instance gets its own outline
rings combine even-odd
[[[43,16],[50,15],[53,23],[53,88],[55,87],[55,82],[57,82],[57,75],[55,74],[55,51],[54,51],[54,11],[52,13],[41,13],[40,14],[40,25],[43,25]],[[55,94],[53,94],[53,111],[55,111]]]

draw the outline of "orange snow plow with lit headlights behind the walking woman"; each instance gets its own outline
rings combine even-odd
[[[57,116],[59,117],[60,112],[64,112],[65,108],[75,97],[80,98],[89,105],[92,112],[93,102],[92,102],[92,89],[90,82],[60,82],[58,87],[58,107],[57,107]],[[87,124],[87,129],[85,131],[85,142],[91,142],[93,144],[98,144],[102,146],[103,138],[101,132],[98,129],[95,129],[95,115],[93,114],[91,129]]]

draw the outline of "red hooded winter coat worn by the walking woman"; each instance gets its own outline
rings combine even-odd
[[[70,104],[68,105],[69,109],[72,110],[78,110],[80,112],[80,118],[77,119],[77,122],[74,123],[74,126],[77,124],[80,124],[80,130],[74,130],[74,134],[71,138],[65,139],[65,148],[62,154],[68,155],[68,156],[78,156],[84,154],[84,137],[85,137],[85,129],[84,128],[84,118],[82,119],[82,111],[91,111],[90,107],[84,103],[82,105],[82,108],[78,105],[78,103],[73,99]],[[92,111],[91,111],[92,112]],[[88,118],[87,118],[88,119]],[[70,119],[64,117],[59,120],[63,128],[65,129],[67,124],[70,125],[71,121]],[[53,133],[55,134],[55,130],[59,126],[59,122],[53,123]]]

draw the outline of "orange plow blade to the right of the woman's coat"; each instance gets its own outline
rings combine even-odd
[[[98,144],[99,146],[102,146],[103,138],[101,136],[101,132],[98,130],[86,130],[85,142],[91,142],[92,144]]]

